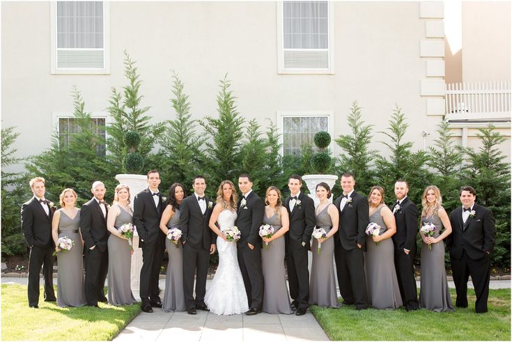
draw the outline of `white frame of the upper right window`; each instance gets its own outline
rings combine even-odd
[[[327,34],[329,35],[329,68],[297,68],[290,69],[284,68],[284,18],[283,18],[283,1],[277,1],[277,73],[278,74],[320,74],[320,75],[334,75],[334,1],[327,2],[327,15],[329,17],[329,24],[327,27]],[[298,49],[297,49],[298,50]],[[314,49],[307,49],[315,51]],[[318,49],[320,50],[320,49]]]

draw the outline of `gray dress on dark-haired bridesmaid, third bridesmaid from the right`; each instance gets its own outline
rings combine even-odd
[[[332,204],[329,204],[332,205]],[[316,215],[316,228],[324,228],[329,233],[332,228],[332,221],[326,205]],[[318,254],[318,240],[313,238],[313,261],[311,263],[311,277],[309,278],[309,304],[326,306],[331,308],[339,307],[336,294],[336,283],[334,282],[334,237],[328,238],[321,244],[321,251]]]

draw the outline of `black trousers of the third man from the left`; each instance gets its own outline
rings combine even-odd
[[[160,239],[154,244],[142,242],[142,267],[139,281],[142,305],[161,302],[158,280],[163,258],[164,249]]]

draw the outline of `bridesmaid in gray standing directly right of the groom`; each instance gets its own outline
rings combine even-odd
[[[261,250],[261,270],[265,279],[263,311],[291,314],[293,312],[284,272],[284,234],[290,228],[290,220],[277,187],[268,187],[265,204],[263,224],[273,226],[274,234],[270,238],[262,238],[263,242],[268,242],[268,248],[263,247]]]

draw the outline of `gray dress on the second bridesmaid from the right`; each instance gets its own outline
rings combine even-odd
[[[381,204],[370,215],[370,222],[380,226],[382,235],[387,231],[387,226],[380,215],[380,210],[385,206]],[[394,244],[391,238],[382,240],[377,245],[371,236],[366,236],[365,254],[366,289],[368,297],[375,309],[398,309],[403,305],[396,277],[394,261]]]

